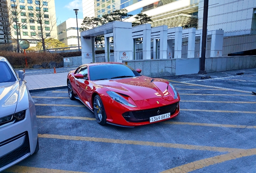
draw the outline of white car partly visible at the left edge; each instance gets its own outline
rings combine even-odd
[[[35,103],[24,77],[0,56],[0,172],[39,150]]]

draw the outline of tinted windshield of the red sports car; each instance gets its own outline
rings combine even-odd
[[[140,76],[124,64],[101,64],[89,67],[90,80],[104,80]]]

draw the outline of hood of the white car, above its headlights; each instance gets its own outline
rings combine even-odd
[[[19,81],[0,83],[0,118],[15,113],[19,98]]]

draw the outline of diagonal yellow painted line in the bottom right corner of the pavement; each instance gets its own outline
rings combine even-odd
[[[239,149],[237,151],[233,151],[231,153],[218,155],[214,157],[210,157],[207,159],[202,159],[199,161],[194,161],[192,163],[188,163],[186,165],[181,165],[161,173],[188,173],[191,171],[195,171],[197,169],[202,169],[204,167],[208,167],[210,165],[215,165],[217,163],[223,163],[225,161],[234,160],[241,157],[248,157],[251,155],[256,155],[256,149]]]

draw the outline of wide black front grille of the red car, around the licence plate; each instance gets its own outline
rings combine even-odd
[[[178,108],[178,104],[179,103],[177,102],[172,105],[167,105],[164,107],[158,107],[154,109],[147,109],[142,111],[130,111],[130,112],[123,113],[123,117],[128,122],[134,122],[134,123],[145,122],[145,121],[149,121],[150,117],[154,117],[156,115],[162,115],[165,113],[171,113],[171,115],[173,115],[176,111],[176,108]]]

